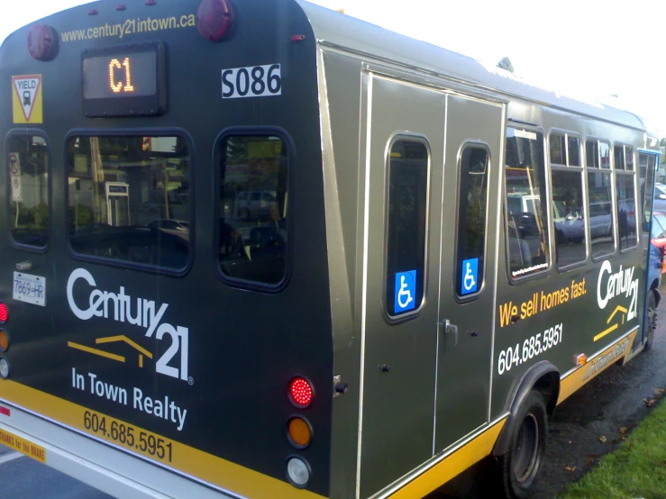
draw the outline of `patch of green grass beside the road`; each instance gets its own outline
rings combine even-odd
[[[666,397],[615,452],[599,460],[559,499],[666,497]]]

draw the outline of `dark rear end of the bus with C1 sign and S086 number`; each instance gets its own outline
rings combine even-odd
[[[281,0],[97,2],[5,41],[5,440],[77,475],[50,440],[68,431],[61,449],[141,459],[125,478],[162,494],[145,463],[231,496],[328,494],[315,64]]]

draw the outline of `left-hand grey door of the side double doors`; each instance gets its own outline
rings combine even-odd
[[[369,74],[368,103],[360,497],[433,456],[446,95]]]

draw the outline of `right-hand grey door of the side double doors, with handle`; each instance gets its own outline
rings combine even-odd
[[[489,418],[503,114],[499,104],[448,97],[435,452]]]

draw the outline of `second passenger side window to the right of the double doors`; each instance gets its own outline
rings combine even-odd
[[[552,220],[555,224],[555,251],[558,268],[566,268],[588,257],[587,233],[583,216],[583,168],[579,168],[579,138],[551,135],[567,144],[569,154],[557,164],[551,150]],[[569,160],[567,160],[569,159]],[[573,159],[573,164],[570,160]]]

